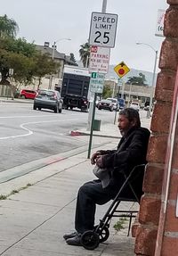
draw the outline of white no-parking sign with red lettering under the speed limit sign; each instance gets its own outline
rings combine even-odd
[[[90,47],[89,72],[108,73],[110,48],[100,46]]]

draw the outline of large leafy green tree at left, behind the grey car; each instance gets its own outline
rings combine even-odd
[[[9,69],[13,69],[12,78],[15,82],[28,85],[34,79],[41,79],[47,74],[54,74],[59,70],[47,54],[36,51],[34,44],[29,44],[24,38],[0,39],[0,84],[10,84]]]

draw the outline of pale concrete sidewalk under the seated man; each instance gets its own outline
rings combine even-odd
[[[109,134],[113,126],[103,126],[103,134]],[[112,135],[118,136],[115,127]],[[111,138],[110,141],[112,143],[93,151],[113,148],[118,139]],[[45,161],[50,164],[1,184],[0,194],[4,200],[0,201],[0,255],[133,256],[134,238],[126,236],[128,222],[125,221],[125,229],[117,232],[113,228],[117,218],[112,219],[109,239],[94,251],[65,243],[62,235],[74,230],[77,189],[85,181],[95,178],[93,167],[86,159],[85,151],[69,157],[58,156],[57,161],[55,157]],[[109,204],[98,206],[96,224]],[[125,202],[120,207],[135,210],[138,204]]]

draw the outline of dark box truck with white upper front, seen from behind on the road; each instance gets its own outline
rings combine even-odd
[[[61,97],[63,98],[63,107],[65,109],[78,108],[81,111],[88,110],[90,77],[88,69],[64,65]]]

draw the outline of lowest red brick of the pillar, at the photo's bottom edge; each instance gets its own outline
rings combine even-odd
[[[135,238],[134,252],[141,255],[154,255],[157,232],[157,229],[141,226],[138,227]]]

